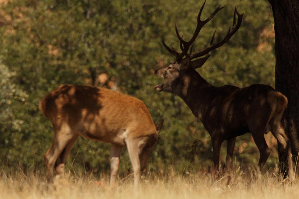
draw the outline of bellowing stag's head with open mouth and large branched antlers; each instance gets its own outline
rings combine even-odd
[[[204,2],[205,4],[205,2]],[[185,41],[183,39],[183,36],[180,36],[178,30],[177,30],[177,24],[175,26],[177,38],[180,41],[180,48],[181,48],[181,53],[177,52],[173,48],[168,47],[164,41],[162,40],[163,46],[176,57],[175,62],[169,63],[167,66],[161,67],[159,69],[155,70],[155,75],[158,75],[164,79],[163,84],[158,84],[155,86],[157,91],[166,91],[166,92],[174,92],[174,87],[178,84],[178,81],[180,81],[180,76],[184,74],[185,71],[187,70],[195,70],[196,68],[200,68],[203,66],[204,62],[207,61],[207,59],[210,57],[208,54],[210,51],[222,46],[224,43],[226,43],[231,36],[237,32],[239,29],[241,22],[242,22],[242,17],[243,14],[239,14],[237,9],[235,8],[235,13],[234,13],[234,20],[233,20],[233,26],[232,28],[229,28],[226,36],[216,44],[213,44],[214,36],[216,33],[216,29],[213,33],[210,46],[203,51],[197,52],[192,54],[192,43],[195,41],[196,37],[198,36],[198,33],[200,32],[201,28],[210,21],[215,14],[223,9],[224,7],[218,6],[216,10],[211,14],[210,17],[208,17],[206,20],[201,21],[200,15],[202,13],[202,10],[204,8],[204,4],[201,6],[200,11],[197,16],[197,26],[195,29],[195,32],[192,36],[192,38],[189,41]],[[236,14],[238,16],[238,21],[236,23]],[[191,48],[190,48],[191,46]],[[190,48],[190,51],[189,51]],[[189,51],[189,53],[188,53]],[[205,56],[204,56],[205,55]],[[204,57],[203,57],[204,56]],[[197,58],[197,59],[196,59]]]

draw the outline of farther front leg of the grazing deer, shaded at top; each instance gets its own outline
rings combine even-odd
[[[122,151],[122,146],[111,144],[111,152],[110,152],[110,186],[115,187],[116,176],[119,168],[119,156]]]

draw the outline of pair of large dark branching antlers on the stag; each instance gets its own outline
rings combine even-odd
[[[181,58],[183,58],[184,56],[190,56],[191,59],[194,59],[194,58],[197,58],[197,57],[200,57],[200,56],[203,56],[205,54],[207,54],[208,52],[212,51],[213,49],[215,48],[218,48],[220,46],[222,46],[224,43],[226,43],[230,38],[231,36],[233,36],[235,34],[235,32],[237,32],[237,30],[239,29],[240,25],[241,25],[241,22],[242,22],[242,17],[243,17],[243,14],[240,15],[237,11],[237,9],[235,8],[235,13],[234,13],[234,22],[233,22],[233,27],[232,27],[232,30],[231,28],[229,28],[228,32],[227,32],[227,35],[224,37],[224,39],[222,41],[220,41],[219,43],[215,44],[215,45],[212,45],[213,44],[213,40],[214,40],[214,37],[215,37],[215,33],[216,33],[216,29],[213,33],[213,36],[212,36],[212,39],[211,39],[211,42],[210,42],[210,46],[205,49],[204,51],[201,51],[201,52],[198,52],[198,53],[195,53],[195,54],[191,54],[191,51],[192,51],[192,47],[191,47],[191,50],[190,50],[190,54],[188,54],[188,50],[189,50],[189,47],[191,46],[191,44],[195,41],[196,37],[198,36],[201,28],[206,24],[208,23],[215,15],[216,13],[223,9],[224,7],[220,7],[220,5],[218,6],[218,8],[215,9],[215,11],[210,15],[210,17],[208,17],[206,20],[204,21],[201,21],[200,20],[200,16],[201,16],[201,13],[202,13],[202,10],[204,9],[204,5],[205,5],[206,1],[204,1],[204,4],[201,6],[200,8],[200,11],[198,13],[198,16],[197,16],[197,25],[196,25],[196,29],[195,29],[195,32],[192,36],[192,38],[187,42],[183,39],[183,36],[180,36],[178,30],[177,30],[177,23],[175,25],[175,29],[176,29],[176,34],[177,34],[177,38],[180,40],[180,48],[181,48],[181,53],[178,53],[176,50],[174,50],[173,48],[171,49],[170,47],[168,47],[165,42],[163,41],[162,39],[162,43],[163,43],[163,46],[171,53],[173,54],[175,57],[176,57],[176,61],[179,61],[181,60]],[[235,26],[235,22],[236,22],[236,13],[238,15],[238,22],[237,22],[237,25]]]

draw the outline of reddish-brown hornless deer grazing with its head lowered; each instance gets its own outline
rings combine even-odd
[[[111,186],[115,186],[120,152],[126,145],[138,188],[140,171],[146,167],[163,124],[161,120],[154,125],[142,101],[105,88],[64,84],[42,98],[39,109],[55,132],[44,156],[48,182],[53,182],[54,167],[64,176],[67,156],[81,135],[111,143]]]

